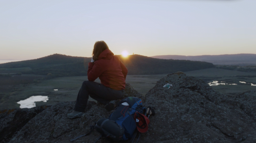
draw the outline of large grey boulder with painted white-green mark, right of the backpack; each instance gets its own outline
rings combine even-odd
[[[166,84],[172,86],[164,87]],[[183,72],[157,81],[145,95],[154,106],[148,143],[253,143],[256,142],[255,91],[237,98],[215,91],[204,81]],[[254,105],[253,105],[254,104]]]

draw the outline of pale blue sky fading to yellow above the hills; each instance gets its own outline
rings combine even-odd
[[[0,59],[256,54],[256,0],[0,0]]]

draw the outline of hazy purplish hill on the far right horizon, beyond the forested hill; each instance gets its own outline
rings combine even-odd
[[[214,65],[237,65],[237,66],[255,66],[256,54],[234,54],[234,55],[202,55],[202,56],[180,56],[180,55],[162,55],[152,56],[158,59],[175,60],[193,60],[210,62]]]

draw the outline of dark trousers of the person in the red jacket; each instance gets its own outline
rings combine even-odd
[[[85,80],[76,98],[75,111],[85,112],[84,109],[87,105],[89,95],[91,98],[106,105],[111,100],[122,99],[124,90],[114,90],[95,81]]]

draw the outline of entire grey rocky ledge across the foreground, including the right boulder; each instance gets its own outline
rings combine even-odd
[[[166,84],[172,86],[163,87]],[[256,90],[228,96],[198,78],[175,72],[157,81],[145,99],[129,84],[125,94],[156,109],[140,143],[256,143]],[[68,119],[74,103],[0,111],[0,143],[70,143],[112,113],[89,101],[81,118]],[[99,136],[94,130],[73,143],[93,143]],[[105,142],[109,141],[102,138],[97,143]]]

